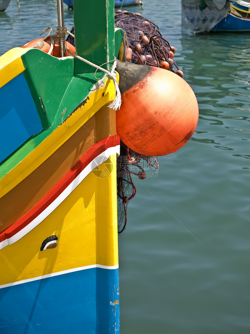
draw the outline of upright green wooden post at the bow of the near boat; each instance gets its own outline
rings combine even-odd
[[[102,65],[114,59],[114,0],[73,0],[75,47],[79,56]],[[111,69],[112,62],[103,66]],[[96,68],[75,58],[75,74]]]

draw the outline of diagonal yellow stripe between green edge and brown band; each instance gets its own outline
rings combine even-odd
[[[117,73],[117,79],[119,75]],[[104,97],[102,94],[105,93]],[[0,181],[0,197],[24,180],[63,143],[65,143],[81,126],[83,126],[102,106],[114,100],[116,94],[113,80],[106,79],[105,87],[91,93],[84,106],[78,108],[64,123],[58,126]]]

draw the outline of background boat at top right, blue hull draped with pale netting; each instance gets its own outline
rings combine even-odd
[[[182,0],[182,30],[250,31],[250,0]]]

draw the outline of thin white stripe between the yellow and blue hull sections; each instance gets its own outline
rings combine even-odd
[[[113,270],[113,269],[118,269],[119,265],[116,265],[116,266],[90,265],[90,266],[72,268],[72,269],[63,270],[63,271],[60,271],[60,272],[57,272],[57,273],[51,273],[51,274],[47,274],[47,275],[42,275],[42,276],[38,276],[38,277],[29,278],[27,280],[22,280],[22,281],[18,281],[18,282],[3,284],[3,285],[0,285],[0,289],[12,287],[14,285],[19,285],[19,284],[23,284],[23,283],[43,280],[44,278],[50,278],[50,277],[54,277],[54,276],[74,273],[74,272],[81,271],[81,270],[92,269],[92,268],[101,268],[101,269],[111,269],[111,270]]]

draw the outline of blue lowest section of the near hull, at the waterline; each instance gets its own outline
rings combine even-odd
[[[1,334],[119,334],[118,269],[91,268],[5,287],[0,300]]]

